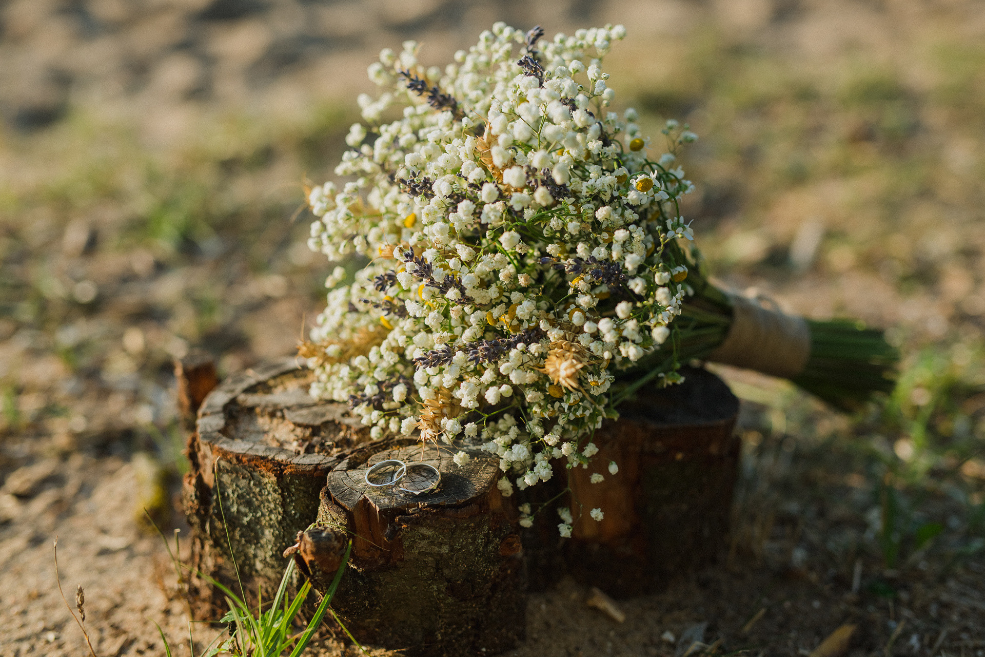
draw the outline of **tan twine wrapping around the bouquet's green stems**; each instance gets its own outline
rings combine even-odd
[[[745,296],[731,296],[732,326],[709,361],[793,378],[811,357],[811,329],[803,317],[769,310]]]

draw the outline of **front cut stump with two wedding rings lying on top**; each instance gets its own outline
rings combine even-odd
[[[368,468],[386,459],[432,465],[440,488],[419,496],[367,486]],[[446,447],[420,443],[354,453],[328,475],[319,526],[300,537],[302,567],[324,591],[340,538],[351,535],[332,607],[360,641],[408,657],[508,650],[525,635],[526,591],[519,514],[498,477],[497,460],[482,452],[463,466]]]

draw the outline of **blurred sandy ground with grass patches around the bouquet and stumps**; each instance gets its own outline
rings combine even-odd
[[[150,582],[160,539],[133,507],[180,524],[172,359],[203,348],[226,374],[292,353],[336,264],[304,244],[303,184],[333,176],[379,49],[414,38],[443,64],[498,20],[624,24],[616,105],[649,134],[678,118],[700,136],[684,214],[715,276],[886,327],[902,351],[896,393],[855,418],[720,370],[747,400],[730,559],[766,573],[757,587],[792,572],[812,591],[804,614],[784,606],[800,593],[719,595],[737,618],[776,608],[747,643],[807,654],[857,614],[870,651],[983,654],[976,0],[0,2],[0,618],[17,628],[0,653],[80,645],[49,574],[60,527],[79,578]],[[158,579],[164,603],[104,603],[102,652],[153,652],[145,616],[181,612]],[[673,654],[659,635],[610,651]]]

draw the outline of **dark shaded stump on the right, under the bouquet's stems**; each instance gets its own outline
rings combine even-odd
[[[714,374],[682,369],[685,382],[638,393],[620,419],[595,432],[587,469],[558,469],[570,488],[571,538],[558,514],[538,513],[524,536],[531,578],[544,587],[563,572],[613,597],[653,593],[674,576],[713,562],[727,544],[741,441],[733,434],[739,400]],[[619,472],[608,466],[615,462]],[[593,474],[605,480],[592,484]],[[552,480],[554,481],[554,480]],[[529,491],[537,502],[550,491]],[[604,518],[589,511],[601,508]]]

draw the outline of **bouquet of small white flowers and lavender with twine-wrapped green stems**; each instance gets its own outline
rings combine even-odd
[[[383,50],[365,124],[310,190],[309,245],[368,262],[329,277],[300,355],[311,394],[348,402],[374,438],[482,445],[504,494],[586,464],[591,436],[646,384],[714,359],[791,378],[841,407],[891,389],[882,334],[807,322],[709,285],[679,202],[669,121],[610,111],[603,56],[623,26],[542,39],[496,24],[444,69]],[[384,118],[386,117],[386,118]],[[660,155],[651,158],[655,149]],[[468,455],[460,451],[456,460]]]

